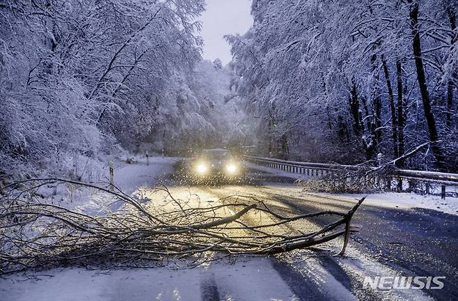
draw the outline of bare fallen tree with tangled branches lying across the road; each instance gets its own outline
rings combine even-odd
[[[40,187],[76,185],[122,201],[123,210],[92,216],[50,203],[37,195]],[[168,210],[148,207],[120,190],[58,178],[30,179],[1,189],[1,273],[29,268],[68,265],[142,266],[164,258],[214,254],[278,254],[312,247],[344,236],[347,246],[350,221],[364,199],[347,212],[319,211],[281,215],[253,196],[230,196],[207,206],[189,206],[175,199],[167,187]],[[227,214],[227,213],[230,214]],[[246,214],[262,214],[264,222],[248,224]],[[322,215],[335,221],[321,229],[298,234],[287,226]],[[286,228],[285,228],[286,227]]]

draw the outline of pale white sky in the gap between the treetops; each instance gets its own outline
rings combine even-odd
[[[232,59],[230,46],[223,39],[226,34],[244,34],[253,24],[251,0],[207,0],[203,13],[202,32],[204,39],[203,58],[213,61],[221,59],[226,65]]]

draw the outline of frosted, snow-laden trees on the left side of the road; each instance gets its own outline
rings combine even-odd
[[[237,137],[221,118],[237,102],[230,71],[200,55],[204,5],[0,1],[0,172],[67,174],[142,143],[189,155]]]

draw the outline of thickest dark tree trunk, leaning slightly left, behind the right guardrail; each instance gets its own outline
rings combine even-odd
[[[429,100],[429,92],[426,84],[425,69],[423,67],[423,59],[421,53],[420,32],[418,29],[418,1],[414,0],[411,4],[410,11],[411,27],[413,34],[413,56],[415,56],[415,65],[417,70],[418,86],[420,88],[421,98],[423,101],[423,111],[428,126],[429,140],[432,142],[432,153],[436,158],[437,167],[441,171],[445,171],[445,162],[443,152],[438,144],[439,134],[437,133],[436,121],[434,121],[434,114],[431,109],[431,102]]]

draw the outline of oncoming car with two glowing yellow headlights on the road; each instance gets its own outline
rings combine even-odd
[[[242,176],[242,162],[223,148],[204,149],[191,161],[191,175],[195,180],[238,180]]]

